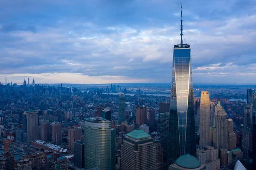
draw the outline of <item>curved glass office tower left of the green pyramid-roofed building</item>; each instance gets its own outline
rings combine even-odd
[[[97,118],[84,120],[84,167],[115,170],[115,129],[111,121]]]

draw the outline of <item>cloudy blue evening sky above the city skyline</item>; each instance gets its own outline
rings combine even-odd
[[[256,84],[255,0],[0,0],[0,81],[171,82],[181,3],[193,82]]]

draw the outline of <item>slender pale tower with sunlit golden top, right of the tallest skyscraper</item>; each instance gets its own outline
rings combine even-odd
[[[208,92],[201,92],[200,101],[200,143],[203,147],[210,145],[210,98]]]

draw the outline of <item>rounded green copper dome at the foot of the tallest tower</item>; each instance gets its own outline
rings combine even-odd
[[[175,163],[178,166],[187,169],[195,169],[201,166],[201,163],[198,161],[198,159],[195,158],[195,156],[189,154],[180,156],[179,158],[177,158]]]

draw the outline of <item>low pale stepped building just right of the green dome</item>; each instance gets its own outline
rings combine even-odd
[[[220,169],[220,159],[218,159],[218,150],[211,146],[205,146],[197,149],[197,158],[201,164],[206,165],[207,170]]]

